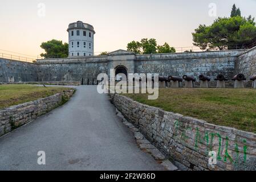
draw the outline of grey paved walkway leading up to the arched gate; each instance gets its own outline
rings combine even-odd
[[[67,104],[0,138],[0,170],[161,170],[107,94],[78,86]],[[37,163],[45,151],[46,165]]]

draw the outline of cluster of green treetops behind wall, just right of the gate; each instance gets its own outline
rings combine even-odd
[[[168,43],[165,43],[163,46],[157,46],[156,39],[141,39],[140,42],[132,41],[127,44],[127,51],[142,54],[176,52]]]

